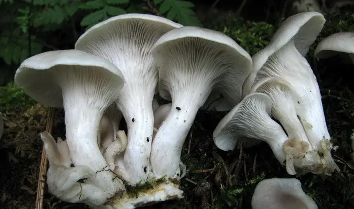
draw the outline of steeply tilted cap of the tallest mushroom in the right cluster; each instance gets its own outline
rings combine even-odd
[[[305,56],[321,32],[325,21],[324,16],[316,11],[298,13],[284,20],[274,33],[268,46],[253,55],[252,72],[243,85],[243,97],[247,95],[257,72],[267,62],[268,58],[289,41],[294,40],[296,49],[302,56]]]

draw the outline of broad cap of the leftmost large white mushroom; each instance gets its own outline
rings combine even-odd
[[[88,69],[95,70],[95,77],[86,78],[111,82],[114,88],[117,87],[118,93],[123,88],[124,77],[116,66],[103,58],[75,49],[44,52],[26,59],[17,69],[14,80],[38,103],[62,107],[62,87],[65,82],[60,80],[59,75],[65,71],[75,71],[84,77]],[[100,86],[110,85],[102,81],[95,83]]]

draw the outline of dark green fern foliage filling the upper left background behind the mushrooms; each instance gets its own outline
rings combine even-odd
[[[11,80],[14,66],[42,51],[73,48],[85,29],[119,14],[155,13],[184,25],[201,26],[193,8],[183,0],[1,0],[0,84]],[[154,6],[159,7],[159,10]],[[159,13],[160,12],[160,13]],[[49,36],[49,37],[48,37]],[[63,40],[64,39],[64,40]],[[6,72],[5,72],[6,69]]]

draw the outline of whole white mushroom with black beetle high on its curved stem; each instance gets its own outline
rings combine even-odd
[[[156,178],[179,179],[182,145],[198,109],[213,90],[223,94],[224,102],[237,104],[252,61],[225,34],[191,26],[163,35],[153,55],[160,95],[172,100],[172,108],[154,137],[151,166]]]

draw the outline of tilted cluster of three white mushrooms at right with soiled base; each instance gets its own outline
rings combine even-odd
[[[324,23],[318,12],[293,15],[252,57],[243,100],[213,132],[217,147],[229,150],[237,141],[254,138],[269,144],[290,175],[331,175],[339,170],[331,156],[320,89],[304,58]]]

